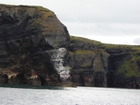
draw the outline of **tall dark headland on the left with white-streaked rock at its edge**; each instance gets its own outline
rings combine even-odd
[[[69,78],[69,39],[48,9],[0,5],[0,83],[59,85]]]

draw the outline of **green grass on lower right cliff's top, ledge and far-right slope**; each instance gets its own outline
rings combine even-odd
[[[94,47],[101,47],[112,55],[123,55],[123,54],[130,54],[130,58],[123,61],[121,65],[118,67],[119,73],[124,73],[125,76],[140,76],[140,68],[139,68],[139,62],[140,62],[140,46],[138,45],[117,45],[117,44],[105,44],[101,43],[99,41],[90,40],[87,38],[81,38],[76,36],[71,36],[71,42],[75,42],[78,46],[81,45],[81,49],[83,49],[83,45],[90,45],[92,44]],[[75,52],[77,54],[88,54],[88,52],[93,53],[91,51],[94,51],[94,49],[88,48],[88,50],[76,50]]]

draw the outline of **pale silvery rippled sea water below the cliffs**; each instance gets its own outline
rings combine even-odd
[[[95,87],[0,87],[0,105],[140,105],[140,90]]]

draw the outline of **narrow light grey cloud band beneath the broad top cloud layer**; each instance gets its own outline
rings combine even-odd
[[[64,22],[72,35],[136,36],[140,24]]]

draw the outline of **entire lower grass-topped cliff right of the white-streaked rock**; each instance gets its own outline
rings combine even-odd
[[[71,36],[72,81],[82,86],[140,87],[140,46],[103,44]]]

